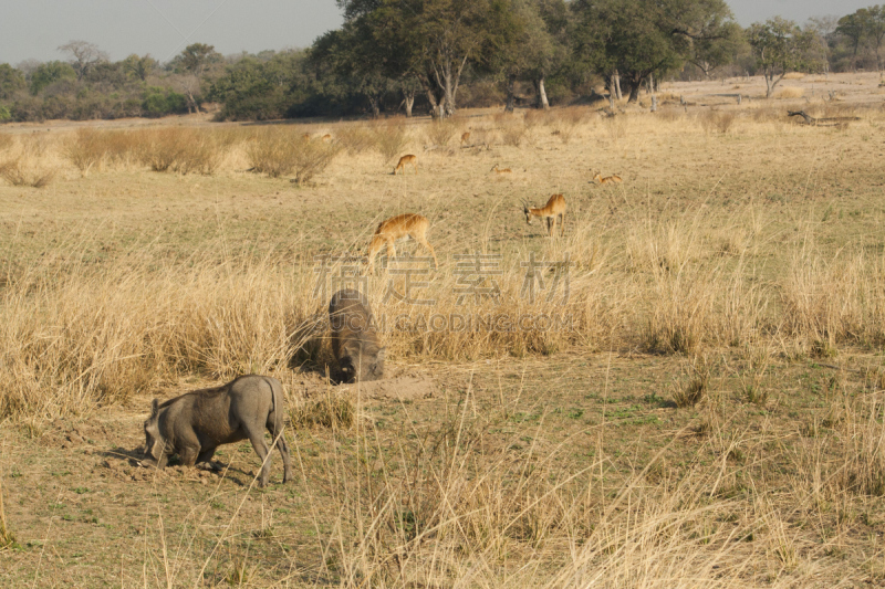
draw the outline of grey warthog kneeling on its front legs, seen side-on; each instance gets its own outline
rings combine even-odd
[[[283,432],[283,387],[271,377],[249,375],[221,387],[186,392],[160,403],[150,404],[145,421],[145,466],[163,469],[173,454],[181,463],[194,466],[209,462],[215,450],[249,439],[261,459],[260,485],[268,484],[270,457],[264,442],[264,429],[280,449],[283,457],[283,483],[292,478],[289,446]]]

